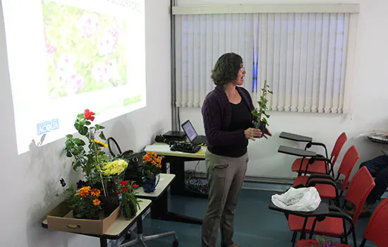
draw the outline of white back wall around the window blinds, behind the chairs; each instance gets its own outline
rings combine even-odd
[[[302,147],[298,143],[279,138],[281,131],[310,135],[315,141],[327,144],[331,152],[338,135],[345,131],[348,142],[341,155],[351,145],[360,152],[360,162],[381,155],[382,144],[371,143],[360,134],[373,129],[388,130],[388,1],[383,0],[327,0],[327,1],[287,1],[287,0],[178,0],[178,6],[212,4],[360,4],[358,35],[356,44],[355,73],[353,80],[352,114],[301,114],[271,112],[270,129],[274,136],[270,140],[250,141],[248,153],[250,176],[295,176],[290,171],[295,157],[277,152],[279,145]],[[212,68],[209,68],[212,69]],[[212,83],[209,80],[209,83]],[[181,121],[190,119],[198,132],[204,133],[202,115],[198,108],[181,108]],[[388,148],[388,145],[385,145]],[[341,161],[341,159],[339,159]],[[340,163],[337,163],[337,167]],[[356,166],[358,167],[358,164]],[[205,164],[201,164],[201,169]],[[356,169],[353,170],[353,173]]]

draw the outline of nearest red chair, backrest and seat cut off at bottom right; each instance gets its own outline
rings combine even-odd
[[[377,205],[375,211],[369,219],[368,225],[363,234],[363,242],[359,247],[365,246],[367,240],[377,246],[388,246],[388,198]],[[296,247],[318,246],[316,240],[307,239],[298,241]],[[349,246],[348,244],[334,243],[336,246]]]

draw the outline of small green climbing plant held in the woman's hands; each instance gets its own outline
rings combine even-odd
[[[267,85],[267,80],[264,82],[264,87],[262,88],[262,95],[260,96],[260,100],[257,101],[259,104],[259,109],[254,109],[252,111],[253,116],[257,116],[257,119],[255,120],[254,127],[259,128],[260,131],[263,134],[268,133],[266,126],[269,126],[268,120],[269,119],[269,114],[267,114],[265,111],[267,110],[267,95],[268,94],[273,94],[274,92],[268,90],[269,85]]]

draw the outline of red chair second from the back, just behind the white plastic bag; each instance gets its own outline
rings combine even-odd
[[[344,193],[348,184],[349,176],[353,170],[354,165],[360,159],[356,147],[353,145],[349,147],[342,159],[341,165],[338,169],[337,177],[328,174],[312,174],[310,176],[298,176],[293,182],[294,187],[298,186],[315,186],[318,193],[320,193],[321,199],[334,200],[334,203],[339,207],[339,197]],[[344,184],[341,187],[341,193],[338,193],[336,182],[339,176],[343,174],[345,176]]]

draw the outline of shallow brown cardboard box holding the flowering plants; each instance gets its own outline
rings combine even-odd
[[[47,225],[53,231],[68,231],[78,234],[103,235],[121,214],[117,207],[109,217],[101,212],[99,219],[75,219],[68,203],[62,202],[47,215]]]

